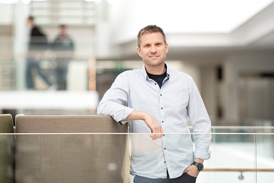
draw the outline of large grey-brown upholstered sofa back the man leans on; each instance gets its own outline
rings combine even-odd
[[[17,115],[15,182],[130,182],[127,134],[110,116]],[[17,135],[18,133],[18,135]]]

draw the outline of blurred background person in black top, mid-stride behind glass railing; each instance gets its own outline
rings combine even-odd
[[[29,52],[27,57],[27,88],[34,89],[33,86],[33,69],[37,70],[43,80],[48,84],[49,89],[54,89],[54,85],[49,81],[40,67],[44,51],[48,48],[47,38],[40,28],[34,25],[34,17],[29,16],[27,25],[30,28]]]

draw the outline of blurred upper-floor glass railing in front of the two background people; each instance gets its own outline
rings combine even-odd
[[[56,27],[58,29],[58,27]],[[90,31],[90,28],[83,27]],[[95,90],[96,63],[92,33],[76,34],[54,44],[55,36],[24,40],[0,36],[0,90]],[[17,49],[14,49],[16,47]]]

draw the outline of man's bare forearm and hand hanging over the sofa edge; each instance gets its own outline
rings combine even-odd
[[[148,114],[147,112],[134,110],[124,120],[129,121],[129,120],[139,120],[139,119],[145,121],[146,125],[148,125],[148,127],[150,128],[151,133],[164,133],[161,124],[158,123],[156,119],[150,114]],[[149,137],[152,138],[152,140],[157,140],[158,138],[162,138],[162,136],[163,134],[151,134]]]

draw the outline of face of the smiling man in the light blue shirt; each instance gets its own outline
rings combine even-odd
[[[168,45],[165,44],[160,32],[146,33],[140,37],[140,47],[137,47],[137,52],[145,66],[159,66],[165,62]]]

